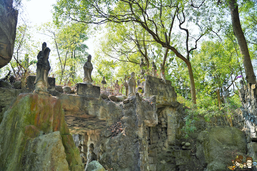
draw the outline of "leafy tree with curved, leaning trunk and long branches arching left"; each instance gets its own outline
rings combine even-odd
[[[57,1],[55,8],[55,22],[71,20],[82,22],[85,24],[103,24],[103,23],[131,23],[134,22],[140,26],[152,39],[166,48],[173,51],[176,56],[182,59],[188,68],[190,78],[192,102],[196,103],[196,92],[194,85],[194,77],[192,66],[190,63],[190,52],[197,48],[197,42],[208,30],[203,30],[200,27],[202,22],[201,16],[210,15],[207,6],[204,6],[204,1],[193,4],[191,2],[181,1],[81,1],[69,2],[66,0]],[[195,14],[194,16],[191,16]],[[181,37],[185,48],[181,52],[172,45],[172,33],[174,23],[178,26],[183,34]],[[194,24],[197,27],[198,34],[193,35],[192,30],[188,27]],[[196,37],[196,38],[194,38]],[[182,55],[185,53],[185,56]],[[163,64],[166,58],[164,55]]]

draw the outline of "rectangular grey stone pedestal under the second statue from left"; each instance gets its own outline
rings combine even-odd
[[[100,87],[91,84],[78,83],[76,84],[75,91],[78,95],[100,98]]]

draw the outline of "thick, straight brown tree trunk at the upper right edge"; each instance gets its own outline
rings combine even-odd
[[[235,0],[228,0],[227,2],[229,4],[229,8],[230,8],[232,27],[234,30],[234,34],[237,38],[240,52],[243,56],[243,64],[244,64],[244,70],[245,70],[245,74],[246,74],[246,81],[247,81],[247,83],[257,84],[255,75],[254,75],[254,70],[252,67],[252,62],[251,62],[248,46],[246,43],[246,39],[244,37],[244,32],[243,32],[241,24],[240,24],[239,13],[238,13],[238,4],[236,3]]]

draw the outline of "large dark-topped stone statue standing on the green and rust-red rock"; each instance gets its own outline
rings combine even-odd
[[[37,55],[37,76],[35,80],[35,91],[47,91],[47,77],[50,70],[48,61],[50,49],[47,47],[46,42],[42,44],[42,50]]]

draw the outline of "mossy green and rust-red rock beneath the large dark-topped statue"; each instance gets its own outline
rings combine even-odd
[[[21,93],[5,108],[1,113],[3,119],[0,124],[0,168],[6,171],[21,170],[22,162],[27,162],[31,166],[37,161],[39,164],[45,160],[49,160],[51,152],[46,152],[46,158],[31,158],[37,155],[27,152],[29,148],[38,148],[43,143],[53,144],[59,142],[60,156],[52,158],[56,162],[63,161],[61,159],[63,152],[66,154],[66,161],[69,170],[77,171],[83,169],[83,165],[79,156],[79,151],[75,147],[72,136],[64,121],[64,111],[61,101],[57,97],[39,95],[37,93]],[[59,131],[58,136],[53,132]],[[41,137],[45,134],[51,134],[53,139],[45,139]],[[59,140],[58,140],[59,137]],[[62,143],[60,143],[60,137]],[[45,142],[45,143],[44,143]],[[10,148],[12,147],[12,148]],[[46,147],[46,146],[45,146]],[[51,148],[49,150],[58,150]],[[64,150],[64,151],[63,151]],[[27,161],[29,157],[31,161]],[[40,155],[40,157],[43,157]],[[40,170],[40,169],[39,169]]]

